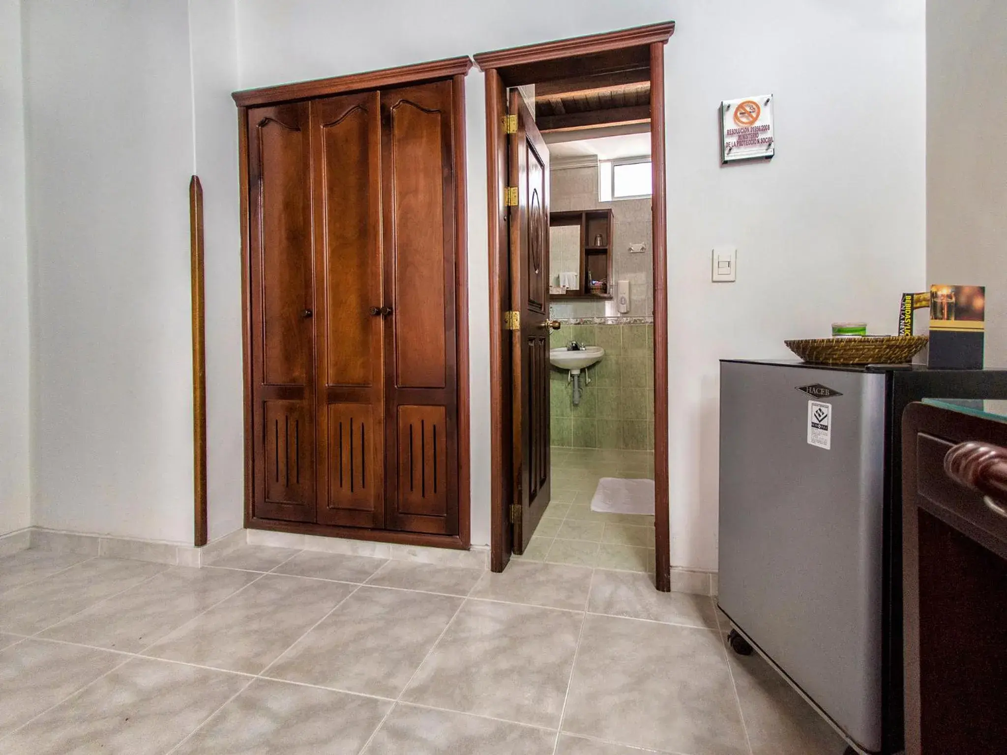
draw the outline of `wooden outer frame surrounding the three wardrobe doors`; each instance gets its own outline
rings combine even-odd
[[[318,79],[310,82],[265,87],[235,92],[238,106],[239,183],[242,225],[242,342],[245,391],[245,526],[299,535],[317,535],[352,540],[395,543],[406,546],[432,546],[468,550],[471,544],[471,462],[469,430],[468,362],[468,214],[465,147],[465,76],[472,65],[467,56],[401,65],[394,68]],[[330,95],[374,89],[388,89],[435,80],[451,81],[452,129],[454,142],[454,236],[455,236],[455,337],[458,389],[458,534],[426,535],[392,530],[328,526],[312,522],[280,521],[255,516],[253,510],[253,418],[252,418],[252,260],[250,247],[251,208],[249,206],[248,110],[261,105],[310,100]]]

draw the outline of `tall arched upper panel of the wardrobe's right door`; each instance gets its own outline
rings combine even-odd
[[[443,389],[454,332],[451,85],[382,93],[382,112],[395,385]]]

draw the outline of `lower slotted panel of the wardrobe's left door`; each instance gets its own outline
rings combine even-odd
[[[314,521],[314,431],[304,402],[263,403],[263,481],[256,513]]]

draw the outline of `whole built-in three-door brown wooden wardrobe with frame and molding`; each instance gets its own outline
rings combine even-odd
[[[247,526],[468,546],[469,65],[235,95]]]

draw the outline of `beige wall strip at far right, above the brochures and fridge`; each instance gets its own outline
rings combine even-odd
[[[1007,367],[1007,3],[926,3],[926,278],[986,286],[986,365]]]

